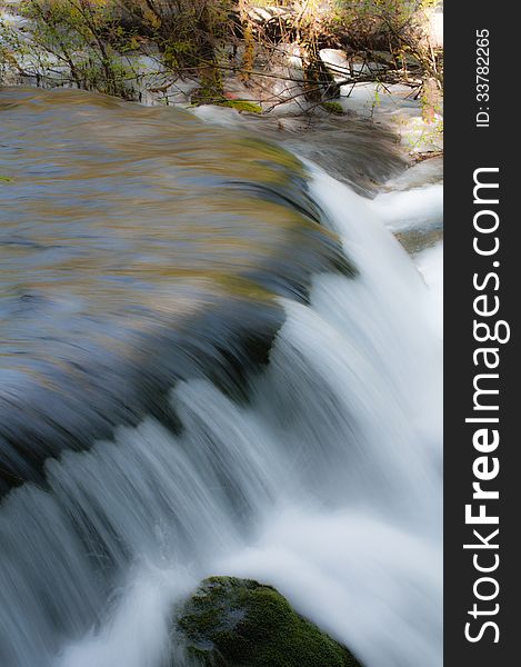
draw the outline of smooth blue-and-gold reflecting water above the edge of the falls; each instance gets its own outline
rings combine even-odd
[[[273,296],[305,300],[313,272],[352,270],[318,223],[299,161],[251,136],[79,91],[11,89],[0,115],[0,172],[11,179],[1,192],[1,490],[42,481],[47,454],[114,424],[150,411],[173,419],[164,395],[177,379],[216,366],[227,390],[243,392],[243,367],[265,357],[247,352],[282,320]],[[229,357],[226,371],[218,356]]]

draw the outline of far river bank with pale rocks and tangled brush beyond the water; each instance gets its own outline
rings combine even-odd
[[[310,73],[305,40],[281,28],[283,21],[289,24],[291,6],[249,7],[251,53],[247,52],[248,34],[242,27],[238,38],[233,31],[227,32],[219,46],[212,47],[216,62],[211,67],[198,60],[200,54],[196,56],[197,66],[182,66],[179,53],[187,44],[177,38],[178,42],[167,46],[177,54],[169,56],[159,32],[143,29],[152,19],[141,18],[139,22],[130,9],[108,22],[92,6],[92,13],[86,14],[92,22],[88,23],[88,36],[80,32],[78,37],[79,29],[72,29],[74,23],[62,16],[66,9],[48,16],[28,7],[38,4],[36,0],[28,6],[20,0],[0,2],[0,83],[4,86],[86,88],[147,106],[217,106],[224,111],[201,110],[200,115],[217,118],[220,113],[221,122],[232,122],[239,115],[273,118],[282,132],[293,133],[307,132],[323,119],[339,131],[351,131],[352,125],[363,119],[393,132],[408,160],[442,151],[442,102],[428,99],[431,80],[420,56],[411,54],[410,49],[368,51],[360,44],[319,48],[321,41],[327,43],[319,34],[313,38],[315,64]],[[322,20],[325,8],[315,11]],[[442,48],[440,18],[442,13],[434,12],[429,19],[432,26],[425,30],[429,44],[438,49]],[[292,20],[297,21],[294,17]],[[108,32],[108,26],[118,34],[121,31],[118,39]],[[314,30],[325,32],[327,28]],[[251,71],[244,69],[247,60]]]

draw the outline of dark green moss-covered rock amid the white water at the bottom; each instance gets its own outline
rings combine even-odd
[[[178,627],[202,667],[360,667],[271,586],[211,577],[183,605]]]

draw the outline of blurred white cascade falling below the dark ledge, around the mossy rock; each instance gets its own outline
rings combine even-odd
[[[176,651],[172,603],[220,574],[273,584],[367,667],[441,665],[441,361],[427,287],[374,207],[321,172],[313,191],[360,276],[317,278],[311,307],[283,301],[252,402],[182,384],[181,436],[150,419],[48,465],[72,517],[81,508],[102,535],[118,527],[106,546],[124,575],[87,636],[81,607],[102,598],[80,545],[36,489],[4,508],[13,534],[32,526],[43,539],[46,526],[31,567],[71,623],[57,649],[20,599],[23,667],[159,667]],[[21,528],[23,506],[33,524]],[[16,575],[0,585],[20,591]]]

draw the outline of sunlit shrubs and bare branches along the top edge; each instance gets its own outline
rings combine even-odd
[[[28,27],[20,32],[0,24],[0,77],[2,69],[14,69],[31,74],[38,84],[58,79],[139,99],[146,76],[140,58],[146,57],[148,69],[152,62],[161,77],[157,90],[178,80],[197,80],[192,103],[241,110],[242,100],[223,98],[226,78],[237,77],[254,88],[273,72],[280,76],[280,62],[288,61],[291,51],[300,69],[297,73],[289,69],[283,78],[301,87],[297,94],[303,92],[310,102],[323,104],[338,97],[339,86],[320,49],[341,48],[350,58],[385,63],[383,72],[362,72],[359,80],[412,80],[419,87],[434,81],[441,89],[442,52],[428,32],[434,4],[434,0],[23,0],[19,12]],[[277,94],[272,101],[278,103]]]

